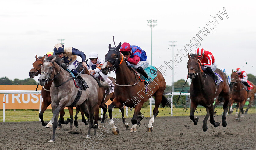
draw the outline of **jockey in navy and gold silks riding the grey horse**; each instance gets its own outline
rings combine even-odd
[[[68,69],[77,76],[79,73],[76,71],[76,68],[78,67],[79,61],[77,60],[77,56],[80,56],[83,61],[83,67],[86,67],[85,62],[85,54],[82,51],[77,50],[73,47],[64,48],[64,45],[61,43],[57,43],[54,45],[53,48],[53,55],[57,55],[61,58],[63,58],[63,61],[68,64]],[[83,88],[86,90],[86,88],[89,88],[87,83],[84,81],[84,79],[79,75],[77,78],[79,78],[83,83]]]

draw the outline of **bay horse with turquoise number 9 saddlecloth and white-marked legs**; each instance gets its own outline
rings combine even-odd
[[[139,76],[127,66],[123,56],[120,54],[119,49],[121,47],[121,42],[117,47],[111,47],[111,44],[108,46],[108,53],[105,55],[106,59],[103,63],[101,69],[103,74],[108,74],[110,71],[116,72],[116,85],[114,88],[115,98],[113,102],[108,105],[108,113],[110,118],[110,125],[112,127],[112,132],[117,135],[119,129],[115,126],[114,120],[112,118],[112,109],[119,108],[124,113],[124,106],[134,108],[134,114],[131,119],[133,124],[130,132],[136,132],[136,126],[140,124],[140,121],[144,116],[141,115],[141,107],[144,102],[148,101],[151,96],[155,97],[155,108],[153,110],[153,116],[149,121],[147,132],[153,131],[153,122],[154,118],[158,115],[158,107],[160,103],[162,106],[169,104],[167,98],[163,95],[163,92],[166,88],[166,83],[163,75],[157,69],[157,77],[148,85],[149,91],[146,92],[144,82],[140,82]],[[154,72],[156,73],[156,71]],[[154,84],[154,85],[153,85]],[[123,117],[123,124],[126,128],[127,123]]]

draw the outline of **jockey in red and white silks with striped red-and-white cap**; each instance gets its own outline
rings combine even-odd
[[[217,69],[217,64],[211,52],[204,51],[203,48],[197,48],[195,54],[199,54],[198,59],[200,65],[205,68],[205,70],[212,76],[214,76],[214,81],[218,80],[218,76],[215,75],[214,71]]]

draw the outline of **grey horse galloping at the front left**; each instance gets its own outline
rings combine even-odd
[[[88,110],[89,129],[86,138],[90,138],[91,128],[98,128],[97,124],[93,124],[93,116],[95,115],[97,118],[98,113],[96,112],[99,108],[99,95],[97,91],[99,91],[99,87],[108,89],[108,83],[104,82],[101,84],[90,75],[81,74],[89,88],[87,88],[86,91],[82,91],[80,99],[76,102],[76,104],[73,104],[79,89],[74,85],[73,79],[71,78],[70,80],[70,73],[66,71],[67,65],[63,64],[61,62],[62,59],[56,56],[50,56],[49,58],[45,56],[45,59],[44,64],[41,65],[42,72],[38,80],[42,86],[44,86],[45,82],[48,80],[53,80],[53,84],[50,88],[53,117],[46,125],[46,127],[53,128],[52,139],[49,142],[55,141],[55,131],[57,128],[57,120],[60,110],[70,105],[80,105],[80,109],[83,112]],[[62,67],[64,67],[65,70]]]

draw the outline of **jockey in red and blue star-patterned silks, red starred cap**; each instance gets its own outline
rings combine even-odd
[[[142,50],[139,46],[123,43],[120,47],[120,52],[121,55],[123,55],[123,58],[127,61],[128,66],[133,66],[140,74],[147,79],[150,79],[144,70],[149,64],[147,54],[144,50]]]

